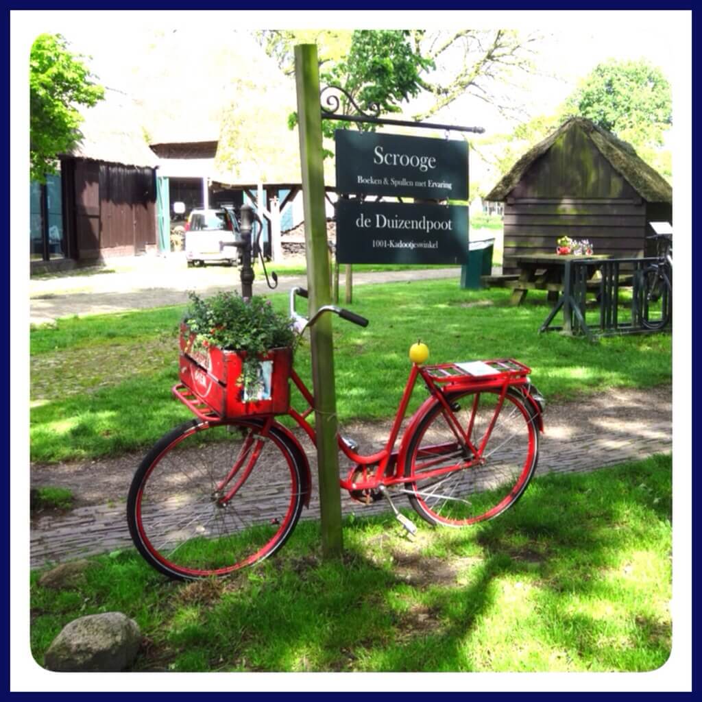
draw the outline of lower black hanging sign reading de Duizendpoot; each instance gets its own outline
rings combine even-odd
[[[338,200],[339,263],[468,262],[468,208]]]

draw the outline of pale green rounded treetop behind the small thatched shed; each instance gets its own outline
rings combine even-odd
[[[670,84],[646,61],[597,65],[566,100],[569,114],[591,119],[635,148],[660,147],[673,124]]]

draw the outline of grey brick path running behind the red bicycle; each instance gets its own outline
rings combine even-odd
[[[586,403],[547,407],[545,426],[537,476],[606,468],[672,451],[670,388],[614,390],[588,399]],[[345,428],[345,434],[359,440],[365,447],[373,443],[377,445],[377,437],[386,430],[386,425],[359,425]],[[316,465],[314,461],[311,463],[312,501],[310,509],[303,512],[303,518],[319,516]],[[103,467],[98,463],[91,470],[110,470],[110,466]],[[124,494],[129,480],[130,475],[125,475],[121,482]],[[70,484],[70,481],[65,481],[65,484]],[[65,515],[34,519],[31,529],[32,567],[131,547],[124,494],[115,496],[114,503],[89,505]],[[387,509],[385,503],[366,508],[346,495],[342,500],[345,514],[354,511],[363,515]],[[406,502],[399,501],[399,506],[405,505]]]

